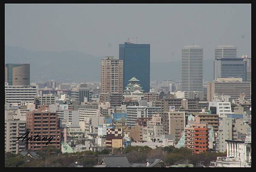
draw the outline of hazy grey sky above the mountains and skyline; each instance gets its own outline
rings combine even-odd
[[[214,48],[226,43],[250,56],[251,5],[5,5],[6,45],[118,57],[118,44],[128,37],[151,45],[151,62],[180,60],[191,43],[204,48],[204,59],[214,59]]]

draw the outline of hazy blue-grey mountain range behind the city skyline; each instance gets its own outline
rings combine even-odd
[[[29,63],[31,82],[55,79],[58,82],[100,81],[100,59],[79,51],[29,51],[5,45],[5,63]],[[151,63],[151,80],[180,80],[181,62]],[[204,80],[213,78],[213,60],[204,60]]]

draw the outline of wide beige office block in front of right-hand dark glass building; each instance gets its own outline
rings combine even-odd
[[[251,82],[243,82],[242,78],[216,78],[213,82],[207,82],[209,102],[212,102],[216,95],[238,99],[241,93],[244,93],[245,99],[251,99]]]

